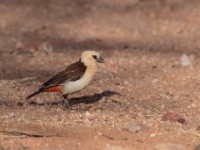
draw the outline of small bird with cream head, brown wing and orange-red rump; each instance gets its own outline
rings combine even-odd
[[[97,63],[104,63],[104,58],[96,51],[84,51],[78,61],[44,82],[37,91],[29,95],[30,99],[43,92],[59,92],[64,98],[65,108],[71,108],[68,95],[85,89],[93,80]]]

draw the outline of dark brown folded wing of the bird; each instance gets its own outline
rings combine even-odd
[[[86,66],[81,61],[75,62],[42,84],[41,89],[48,89],[68,81],[76,81],[83,76],[85,71]]]

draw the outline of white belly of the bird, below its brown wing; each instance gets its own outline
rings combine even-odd
[[[73,94],[76,93],[84,88],[86,88],[89,83],[91,82],[92,78],[89,78],[86,74],[83,75],[83,77],[77,81],[70,81],[66,82],[62,85],[63,87],[63,94]]]

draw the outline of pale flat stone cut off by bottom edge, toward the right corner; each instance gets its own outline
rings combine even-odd
[[[154,146],[155,150],[185,150],[182,145],[173,143],[160,143]]]

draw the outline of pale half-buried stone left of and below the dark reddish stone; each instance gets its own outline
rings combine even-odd
[[[137,120],[133,120],[129,123],[127,129],[129,132],[138,133],[139,131],[149,129],[149,126],[147,126],[146,124],[139,123]]]

